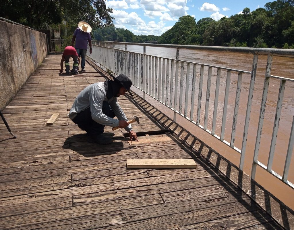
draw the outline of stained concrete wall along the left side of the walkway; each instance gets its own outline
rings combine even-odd
[[[2,111],[43,62],[47,55],[47,44],[46,34],[5,21],[0,21],[0,31]]]

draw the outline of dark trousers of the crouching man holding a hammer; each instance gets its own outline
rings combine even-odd
[[[108,102],[103,102],[102,112],[108,117],[115,117],[115,114]],[[77,124],[81,130],[86,131],[89,135],[98,135],[104,132],[105,125],[101,125],[92,119],[90,108],[78,113],[72,121]]]

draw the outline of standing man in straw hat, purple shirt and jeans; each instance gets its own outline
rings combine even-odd
[[[71,40],[71,46],[74,46],[74,41],[76,40],[76,52],[78,53],[79,57],[82,57],[81,60],[81,68],[82,72],[85,70],[85,57],[87,52],[87,46],[89,42],[90,46],[90,54],[92,53],[92,43],[91,43],[91,36],[90,32],[92,31],[91,26],[86,23],[85,21],[80,21],[78,23],[78,28],[74,32],[74,36]],[[71,70],[73,72],[73,70]]]

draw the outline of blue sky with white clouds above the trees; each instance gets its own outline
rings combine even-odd
[[[185,15],[193,16],[196,22],[210,17],[216,21],[226,16],[242,13],[245,7],[253,11],[264,8],[264,0],[105,0],[106,6],[113,9],[116,28],[128,29],[135,35],[153,34],[160,36],[171,29],[178,19]]]

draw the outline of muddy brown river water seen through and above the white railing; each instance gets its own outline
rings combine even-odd
[[[118,49],[125,49],[124,46],[119,47]],[[143,47],[138,46],[128,46],[128,51],[143,53]],[[154,55],[157,57],[164,58],[176,58],[176,49],[171,48],[160,48],[160,47],[146,47],[146,54]],[[220,67],[228,67],[231,69],[251,71],[253,64],[253,55],[243,54],[243,53],[233,53],[233,52],[213,52],[213,51],[198,51],[193,49],[180,49],[180,60],[197,62],[202,64],[211,64]],[[244,171],[248,175],[251,174],[253,153],[255,148],[255,138],[258,127],[258,119],[260,114],[260,104],[261,97],[263,92],[263,84],[265,78],[265,68],[266,68],[267,56],[259,55],[258,57],[258,69],[255,79],[254,92],[253,92],[253,102],[251,107],[250,114],[250,124],[247,137],[246,145],[246,154],[245,154],[245,163]],[[197,114],[197,103],[198,103],[198,85],[199,85],[199,70],[197,70],[196,77],[196,92],[195,92],[195,105],[194,105],[194,116],[193,120],[196,121]],[[200,124],[203,126],[204,120],[204,110],[205,110],[205,98],[206,98],[206,84],[207,84],[207,73],[208,68],[204,69],[204,78],[203,78],[203,91],[202,91],[202,103],[201,103],[201,120]],[[288,57],[274,57],[273,64],[271,68],[271,75],[276,75],[280,77],[294,78],[294,58]],[[192,68],[190,70],[190,76],[192,74]],[[190,77],[192,78],[192,77]],[[225,128],[225,140],[230,142],[230,135],[232,130],[232,120],[233,112],[235,105],[235,94],[236,94],[236,85],[238,80],[238,74],[232,72],[230,79],[230,93],[228,101],[228,111],[226,119],[226,128]],[[184,82],[186,80],[184,79]],[[221,72],[220,80],[220,93],[218,98],[218,112],[217,112],[217,123],[216,123],[216,135],[220,136],[221,129],[221,120],[222,120],[222,110],[223,102],[225,95],[225,82],[226,82],[226,71]],[[242,139],[243,139],[243,129],[245,124],[245,115],[246,107],[248,100],[248,89],[250,83],[250,74],[243,74],[242,77],[242,87],[239,103],[239,112],[238,112],[238,122],[235,135],[235,147],[241,149]],[[191,80],[190,80],[191,85]],[[211,130],[212,126],[212,115],[213,115],[213,105],[214,105],[214,95],[215,95],[215,85],[216,85],[216,68],[213,68],[212,79],[211,79],[211,97],[209,101],[209,115],[208,115],[208,129]],[[270,143],[273,132],[273,122],[275,118],[275,110],[277,106],[278,91],[280,87],[280,80],[270,79],[268,97],[265,110],[265,120],[263,123],[263,132],[260,142],[258,160],[267,165],[268,155],[270,150]],[[138,95],[142,96],[143,93],[132,87]],[[191,90],[190,90],[191,91]],[[185,94],[185,93],[183,93]],[[189,92],[189,97],[191,98],[191,92]],[[154,105],[158,110],[164,114],[173,118],[173,112],[159,103],[158,101],[152,99],[146,95],[146,100],[148,100],[152,105]],[[190,99],[191,100],[191,99]],[[190,102],[189,102],[190,104]],[[183,111],[182,111],[183,112]],[[284,100],[282,105],[282,112],[280,118],[280,125],[278,130],[277,142],[275,146],[275,155],[273,161],[273,170],[280,175],[283,175],[283,168],[285,165],[285,157],[288,149],[288,142],[290,137],[291,125],[293,120],[294,113],[294,82],[286,82]],[[177,123],[186,128],[190,133],[196,135],[204,143],[208,144],[223,155],[225,158],[230,160],[235,165],[239,165],[240,153],[236,152],[228,145],[225,145],[217,138],[213,137],[209,133],[205,132],[196,125],[192,125],[191,122],[177,116]],[[294,189],[285,185],[283,182],[279,181],[274,176],[270,175],[267,171],[257,167],[257,172],[255,180],[260,183],[261,186],[266,188],[270,193],[275,195],[281,201],[283,201],[287,206],[292,210],[294,209]],[[294,183],[294,154],[292,155],[292,161],[290,165],[290,171],[288,174],[288,181]]]

